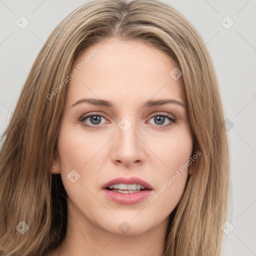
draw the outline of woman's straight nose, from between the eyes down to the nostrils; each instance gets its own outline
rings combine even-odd
[[[123,123],[119,123],[119,126],[116,128],[117,134],[113,138],[111,160],[115,164],[123,164],[126,167],[129,165],[140,165],[145,157],[143,139],[141,139],[135,124],[129,124],[127,121],[126,123],[124,122],[126,128],[129,125],[127,130],[121,124]]]

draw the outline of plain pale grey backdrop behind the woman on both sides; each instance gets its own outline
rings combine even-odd
[[[0,0],[0,133],[53,28],[86,0]],[[219,81],[231,158],[224,256],[256,255],[256,1],[164,0],[201,34]],[[20,16],[22,22],[20,21]],[[26,21],[28,20],[28,21]],[[19,26],[16,24],[19,22]],[[28,25],[21,29],[21,23]]]

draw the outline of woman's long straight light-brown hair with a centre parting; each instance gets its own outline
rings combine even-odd
[[[51,174],[68,87],[59,85],[79,52],[110,37],[160,49],[182,71],[192,154],[201,154],[169,215],[164,256],[219,255],[230,180],[218,82],[196,29],[159,0],[89,1],[65,17],[40,49],[1,138],[0,254],[44,256],[63,240],[66,191],[60,174]],[[20,221],[29,227],[24,234],[15,228]]]

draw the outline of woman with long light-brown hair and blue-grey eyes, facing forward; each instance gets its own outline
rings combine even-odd
[[[209,53],[175,9],[77,8],[38,53],[3,134],[0,254],[219,255],[223,120]]]

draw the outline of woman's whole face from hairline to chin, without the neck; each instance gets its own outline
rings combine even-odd
[[[192,153],[183,87],[169,74],[174,67],[161,50],[116,38],[76,57],[52,171],[60,172],[74,218],[119,235],[123,227],[136,235],[167,224]]]

